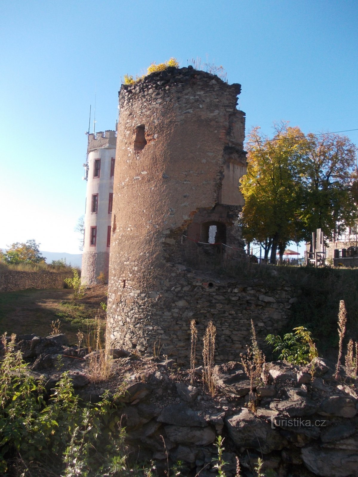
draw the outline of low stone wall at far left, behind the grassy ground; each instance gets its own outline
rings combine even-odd
[[[28,288],[63,288],[63,280],[71,278],[72,271],[18,271],[0,273],[0,291],[27,290]]]

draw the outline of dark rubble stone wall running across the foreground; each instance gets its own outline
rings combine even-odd
[[[31,362],[29,372],[35,377],[45,373],[48,388],[58,380],[53,367],[59,354],[70,363],[86,352],[68,346],[63,335],[22,336],[17,347]],[[111,353],[119,363],[131,359],[124,350]],[[213,444],[221,435],[228,477],[235,476],[235,456],[242,475],[249,475],[263,457],[263,472],[272,469],[279,477],[358,476],[357,383],[343,366],[336,380],[334,365],[322,358],[306,367],[265,363],[263,381],[250,394],[241,363],[224,363],[214,368],[217,395],[211,398],[203,390],[202,368],[196,369],[191,385],[189,373],[178,372],[173,360],[151,362],[148,373],[126,377],[126,393],[117,403],[117,421],[126,427],[129,452],[137,462],[153,459],[158,469],[165,469],[168,453],[169,465],[181,460],[187,466],[184,475],[200,471],[201,477],[213,476]],[[99,400],[104,388],[91,388],[86,372],[84,367],[71,373],[74,388],[84,399]],[[254,412],[247,407],[250,397]]]

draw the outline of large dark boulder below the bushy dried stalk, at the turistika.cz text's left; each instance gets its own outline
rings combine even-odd
[[[285,439],[270,424],[254,416],[248,409],[225,419],[228,433],[239,447],[253,448],[268,454],[273,450],[281,450]]]

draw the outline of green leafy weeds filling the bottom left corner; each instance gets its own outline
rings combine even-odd
[[[40,467],[46,475],[63,477],[126,469],[125,433],[116,425],[116,408],[108,395],[97,404],[84,404],[66,372],[46,402],[44,383],[35,381],[21,352],[14,351],[15,335],[10,342],[3,336],[2,342],[0,475],[11,467],[21,468],[18,475],[23,476],[35,475],[29,469]]]

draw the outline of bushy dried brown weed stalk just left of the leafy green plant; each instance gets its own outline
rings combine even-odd
[[[263,365],[265,363],[265,355],[260,350],[256,340],[255,327],[253,326],[253,320],[251,320],[251,346],[247,346],[246,354],[240,354],[241,362],[245,373],[250,379],[250,400],[249,409],[254,412],[256,408],[253,386],[260,381],[261,374],[263,372]]]

